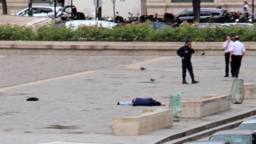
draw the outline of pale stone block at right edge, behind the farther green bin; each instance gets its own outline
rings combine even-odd
[[[256,99],[256,83],[244,83],[244,99]]]

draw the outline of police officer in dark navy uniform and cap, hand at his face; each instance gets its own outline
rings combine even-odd
[[[187,70],[190,73],[192,83],[199,83],[199,81],[194,80],[194,73],[193,73],[192,63],[190,61],[191,54],[194,54],[194,50],[192,49],[190,39],[185,40],[185,45],[183,47],[179,48],[179,50],[177,51],[177,54],[181,57],[181,62],[182,62],[182,78],[183,78],[182,83],[183,84],[188,84],[186,79],[185,79]]]

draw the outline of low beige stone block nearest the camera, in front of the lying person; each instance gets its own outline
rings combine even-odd
[[[142,135],[172,125],[172,109],[145,109],[141,115],[112,118],[112,134]]]

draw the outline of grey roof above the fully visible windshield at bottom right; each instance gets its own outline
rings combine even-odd
[[[218,132],[215,132],[212,136],[215,136],[215,135],[233,135],[233,134],[251,135],[251,133],[253,133],[253,132],[255,132],[255,130],[242,130],[242,129],[220,130]]]

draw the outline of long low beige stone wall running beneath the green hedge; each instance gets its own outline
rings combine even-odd
[[[244,42],[246,55],[256,55],[256,42]],[[184,42],[1,41],[1,54],[35,55],[176,55]],[[193,42],[194,55],[221,56],[222,42]]]

